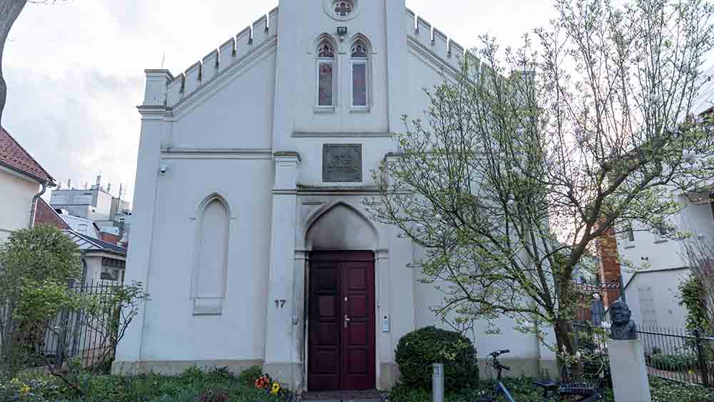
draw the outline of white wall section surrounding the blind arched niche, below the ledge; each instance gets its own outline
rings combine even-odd
[[[261,360],[268,280],[272,162],[172,160],[159,181],[162,222],[154,238],[151,298],[142,356],[149,361]],[[236,174],[240,172],[239,174]],[[226,184],[230,184],[226,186]],[[220,316],[195,316],[191,308],[196,211],[218,193],[230,204],[226,299]],[[158,285],[160,284],[160,285]],[[259,312],[259,313],[256,313]],[[200,341],[198,341],[200,340]]]

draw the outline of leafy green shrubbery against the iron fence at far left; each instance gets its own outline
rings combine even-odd
[[[149,300],[141,283],[76,286],[81,267],[79,248],[54,226],[15,231],[0,245],[1,366],[11,371],[46,366],[80,395],[81,371],[106,370],[126,328]],[[48,339],[53,356],[45,348]],[[76,341],[89,348],[91,356],[66,364],[64,357],[73,357]]]

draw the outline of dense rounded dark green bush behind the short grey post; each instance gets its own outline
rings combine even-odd
[[[478,383],[473,343],[458,332],[428,326],[407,333],[397,344],[396,362],[406,386],[430,389],[433,363],[443,363],[448,390],[472,388]]]

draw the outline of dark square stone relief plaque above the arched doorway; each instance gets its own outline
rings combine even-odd
[[[324,144],[322,147],[322,181],[362,181],[361,144]]]

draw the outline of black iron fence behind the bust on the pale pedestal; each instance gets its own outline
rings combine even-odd
[[[580,350],[607,353],[608,332],[590,323],[575,323],[575,346]],[[638,328],[638,335],[650,377],[714,388],[714,336],[701,331],[650,326]]]

